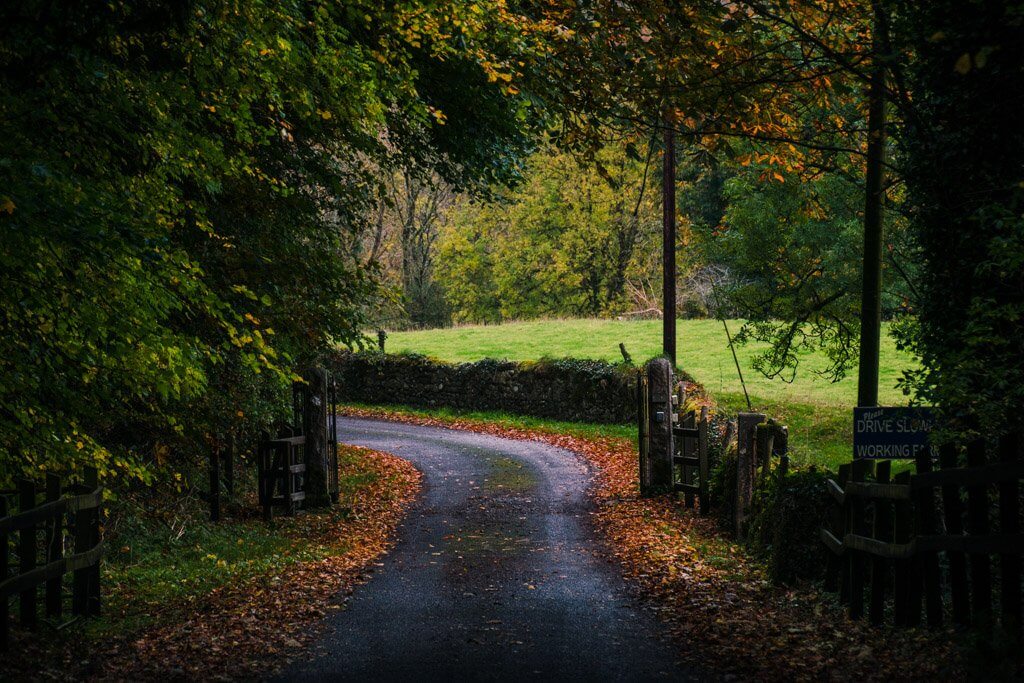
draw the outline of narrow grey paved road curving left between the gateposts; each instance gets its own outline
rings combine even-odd
[[[593,553],[586,467],[528,441],[343,419],[425,475],[396,548],[286,679],[695,679]]]

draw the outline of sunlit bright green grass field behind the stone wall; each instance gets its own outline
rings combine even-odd
[[[735,334],[740,321],[730,321]],[[742,388],[720,321],[680,321],[679,366],[700,382],[726,411],[745,409]],[[465,326],[440,330],[390,333],[387,350],[415,352],[451,361],[481,358],[532,360],[542,357],[598,358],[618,361],[618,342],[640,364],[660,353],[660,321],[550,319],[494,326]],[[790,425],[798,462],[835,466],[851,458],[852,408],[856,402],[856,369],[839,382],[821,377],[827,359],[816,353],[801,356],[793,382],[768,379],[756,372],[752,359],[763,344],[737,347],[746,389],[756,411]],[[880,400],[905,404],[896,387],[903,370],[914,359],[896,349],[888,335],[882,344]]]

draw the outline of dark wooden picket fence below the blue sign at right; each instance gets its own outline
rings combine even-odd
[[[895,626],[928,624],[947,613],[957,625],[1021,625],[1021,487],[1019,434],[998,439],[994,458],[982,440],[939,450],[939,468],[923,454],[894,475],[890,461],[857,460],[828,481],[835,506],[821,539],[831,551],[825,588],[839,591],[851,618]],[[962,463],[965,466],[962,466]],[[993,511],[997,511],[993,515]],[[995,529],[992,522],[995,521]]]

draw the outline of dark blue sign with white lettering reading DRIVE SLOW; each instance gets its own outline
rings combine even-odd
[[[932,447],[930,408],[853,409],[854,460],[912,460]]]

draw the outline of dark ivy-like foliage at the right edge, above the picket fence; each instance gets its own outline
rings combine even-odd
[[[1024,5],[930,2],[896,15],[915,55],[903,140],[924,261],[908,387],[949,430],[1024,426]]]

